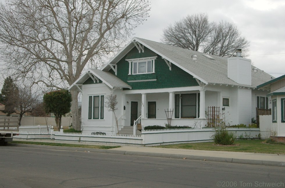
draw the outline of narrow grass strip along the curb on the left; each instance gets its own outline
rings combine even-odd
[[[29,141],[12,141],[14,144],[35,144],[45,146],[65,146],[65,147],[81,147],[81,148],[95,148],[95,149],[112,149],[121,146],[101,146],[101,145],[88,145],[88,144],[65,144],[65,143],[52,143],[52,142],[29,142]]]

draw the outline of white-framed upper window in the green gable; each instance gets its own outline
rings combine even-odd
[[[155,73],[156,57],[126,59],[129,62],[129,75]]]

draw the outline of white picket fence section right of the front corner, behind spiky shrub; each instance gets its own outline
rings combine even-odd
[[[258,138],[260,133],[259,128],[227,128],[227,130],[235,132],[237,138]],[[214,132],[213,128],[143,130],[143,146],[211,142]]]

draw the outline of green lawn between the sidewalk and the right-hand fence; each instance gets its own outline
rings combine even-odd
[[[285,154],[284,144],[265,144],[263,142],[265,142],[265,140],[236,140],[234,144],[240,144],[239,146],[216,146],[213,145],[214,142],[203,142],[203,143],[162,145],[156,147]]]

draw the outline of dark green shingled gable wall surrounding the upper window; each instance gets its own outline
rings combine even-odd
[[[155,60],[155,73],[151,74],[139,74],[139,75],[128,75],[129,74],[129,62],[125,59],[136,59],[143,57],[154,57]],[[113,70],[110,70],[113,74]],[[172,64],[172,70],[161,56],[157,55],[153,51],[145,47],[144,53],[138,52],[138,49],[134,47],[130,52],[117,63],[117,77],[122,81],[129,84],[133,89],[157,89],[157,88],[173,88],[173,87],[186,87],[186,86],[198,86],[198,83],[192,75],[181,70],[174,64]],[[156,81],[150,82],[127,82],[133,80],[148,80],[157,79]]]

